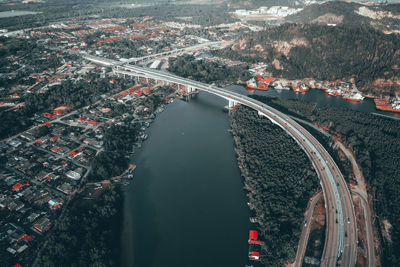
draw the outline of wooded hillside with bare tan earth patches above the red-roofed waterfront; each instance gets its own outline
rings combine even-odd
[[[350,80],[375,95],[400,92],[400,36],[371,27],[284,24],[241,38],[215,54],[266,62],[289,79]]]

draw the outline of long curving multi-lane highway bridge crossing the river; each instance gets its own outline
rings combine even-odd
[[[98,64],[112,66],[118,75],[135,78],[153,79],[162,83],[176,84],[190,94],[205,91],[220,96],[229,102],[229,107],[237,104],[258,111],[274,124],[284,129],[305,151],[316,170],[323,189],[326,207],[326,225],[324,252],[321,266],[355,266],[357,232],[354,207],[350,191],[335,161],[326,149],[301,125],[282,112],[242,94],[234,93],[216,86],[185,79],[168,72],[157,71],[133,65],[121,65],[109,59],[86,56]]]

